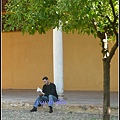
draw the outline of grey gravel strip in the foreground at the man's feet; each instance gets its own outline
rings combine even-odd
[[[30,112],[31,108],[2,108],[2,120],[102,120],[102,114],[84,113],[54,108],[40,107],[37,112]],[[111,115],[111,120],[118,120],[118,115]]]

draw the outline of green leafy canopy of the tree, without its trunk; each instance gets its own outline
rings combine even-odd
[[[112,2],[117,16],[118,1]],[[7,14],[2,16],[5,31],[21,29],[33,35],[36,30],[39,34],[45,34],[51,28],[62,27],[66,33],[77,30],[79,34],[97,37],[100,31],[111,37],[115,32],[109,19],[111,22],[116,19],[114,27],[118,29],[118,17],[114,18],[108,0],[9,0],[6,11]],[[93,24],[93,20],[96,24]],[[59,21],[62,21],[61,25]]]

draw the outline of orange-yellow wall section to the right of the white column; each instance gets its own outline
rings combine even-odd
[[[67,90],[103,90],[103,63],[99,39],[63,34],[64,86]],[[110,43],[112,46],[113,43]],[[111,61],[111,91],[118,90],[118,50]]]

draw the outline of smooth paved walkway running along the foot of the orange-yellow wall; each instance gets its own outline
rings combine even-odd
[[[34,102],[38,93],[36,90],[2,90],[2,101]],[[103,92],[100,91],[65,91],[67,104],[103,105]],[[118,93],[110,94],[111,107],[118,107]]]

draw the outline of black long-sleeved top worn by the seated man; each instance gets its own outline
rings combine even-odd
[[[45,93],[45,96],[48,97],[49,95],[54,95],[58,99],[58,94],[54,83],[50,83],[49,85],[43,85],[42,91]]]

